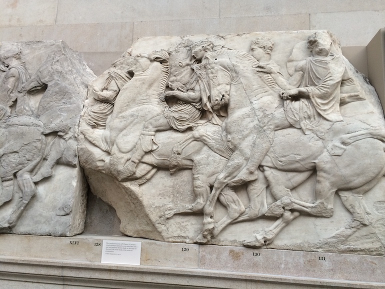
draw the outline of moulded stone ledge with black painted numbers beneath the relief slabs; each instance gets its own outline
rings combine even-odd
[[[141,242],[140,265],[101,263],[103,240]],[[385,288],[382,256],[86,234],[3,234],[0,246],[7,288]]]

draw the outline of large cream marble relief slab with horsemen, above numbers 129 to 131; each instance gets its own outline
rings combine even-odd
[[[383,255],[384,124],[328,31],[149,37],[90,82],[79,157],[130,236]]]

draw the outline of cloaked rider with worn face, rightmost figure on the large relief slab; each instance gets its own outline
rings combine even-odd
[[[251,157],[235,182],[255,179],[255,170],[270,149],[275,130],[294,126],[305,134],[313,132],[323,138],[334,122],[343,120],[339,112],[339,88],[345,65],[339,55],[330,52],[331,44],[331,36],[326,31],[310,35],[307,48],[311,56],[296,65],[288,81],[273,67],[256,65],[258,72],[269,73],[283,89],[280,96],[284,109],[270,115],[263,126],[263,135],[255,137]]]

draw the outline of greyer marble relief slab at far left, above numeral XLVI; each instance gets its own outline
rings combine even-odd
[[[77,130],[95,76],[61,41],[1,42],[0,60],[0,231],[78,234]]]

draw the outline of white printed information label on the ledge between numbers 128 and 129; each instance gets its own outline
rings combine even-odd
[[[102,263],[140,265],[141,242],[103,240]]]

